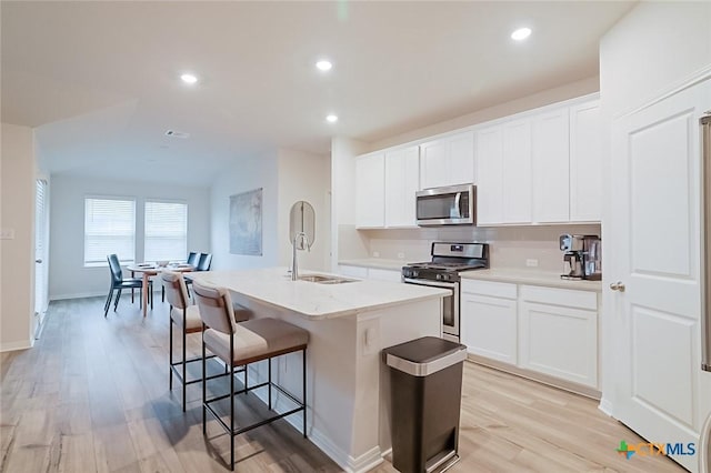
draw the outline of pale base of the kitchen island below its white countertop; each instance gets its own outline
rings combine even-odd
[[[440,336],[441,300],[309,320],[240,294],[233,298],[257,318],[282,319],[309,331],[307,419],[311,442],[349,472],[367,472],[382,462],[391,444],[390,383],[380,352],[420,336]],[[300,355],[284,356],[272,370],[278,382],[301,393]],[[267,365],[262,363],[250,372],[253,376],[250,382],[266,379]],[[298,415],[287,420],[301,429]]]

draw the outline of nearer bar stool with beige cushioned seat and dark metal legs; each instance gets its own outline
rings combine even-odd
[[[296,325],[278,319],[252,319],[240,324],[234,323],[230,316],[232,300],[230,293],[224,288],[207,286],[199,281],[192,283],[193,296],[200,308],[200,318],[204,324],[202,332],[202,433],[207,435],[207,412],[222,425],[222,429],[230,434],[230,470],[234,471],[234,436],[259,427],[267,423],[297,412],[303,412],[303,436],[307,436],[307,345],[309,343],[309,332]],[[210,350],[229,366],[230,394],[207,399],[206,388],[206,350]],[[271,360],[273,358],[302,352],[302,401],[293,394],[287,392],[271,381]],[[247,385],[247,365],[258,361],[268,361],[269,379],[264,383],[253,386]],[[234,391],[236,366],[244,366],[244,389]],[[248,391],[269,386],[269,410],[272,409],[272,388],[289,397],[297,407],[281,414],[272,415],[253,424],[234,427],[234,394],[247,393]],[[229,425],[210,405],[213,402],[230,397],[230,423]]]

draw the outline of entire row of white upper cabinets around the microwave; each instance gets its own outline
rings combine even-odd
[[[369,153],[357,158],[357,227],[415,227],[418,190],[467,183],[478,225],[599,222],[602,150],[599,100],[583,98]]]

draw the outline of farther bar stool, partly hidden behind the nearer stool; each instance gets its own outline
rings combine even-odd
[[[186,370],[188,363],[202,360],[200,356],[188,360],[187,356],[187,335],[189,333],[202,332],[202,321],[200,320],[200,311],[197,305],[190,305],[188,301],[188,289],[182,273],[174,271],[161,271],[161,282],[166,291],[166,298],[170,304],[170,381],[169,386],[173,389],[173,374],[178,381],[182,383],[182,412],[186,412],[186,391],[188,384],[199,383],[202,378],[187,381]],[[243,322],[249,319],[251,312],[241,305],[232,308],[232,314],[236,322]],[[182,332],[182,359],[173,361],[173,324],[178,325]],[[210,355],[208,358],[214,358]],[[181,368],[179,370],[178,368]],[[212,378],[224,376],[224,374],[212,375]]]

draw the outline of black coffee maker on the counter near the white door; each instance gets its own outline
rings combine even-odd
[[[561,279],[602,279],[602,240],[598,235],[562,234],[559,239],[563,251]]]

